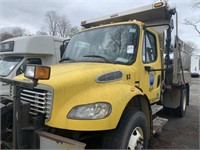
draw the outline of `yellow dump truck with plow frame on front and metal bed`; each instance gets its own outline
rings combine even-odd
[[[146,149],[167,122],[157,112],[184,116],[190,56],[175,8],[162,1],[81,25],[60,64],[0,78],[13,85],[1,102],[3,148]]]

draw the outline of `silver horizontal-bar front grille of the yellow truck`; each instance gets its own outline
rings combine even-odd
[[[46,120],[51,117],[52,97],[50,90],[42,89],[23,89],[20,93],[21,100],[30,103],[29,113],[32,115],[45,114]]]

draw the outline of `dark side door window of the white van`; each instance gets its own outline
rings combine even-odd
[[[28,58],[23,64],[17,69],[16,76],[24,73],[27,64],[42,65],[42,60],[40,58]]]

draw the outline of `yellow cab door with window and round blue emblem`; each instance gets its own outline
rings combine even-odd
[[[157,70],[161,69],[161,54],[158,35],[153,30],[144,31],[140,69],[140,88],[150,103],[159,101],[161,71]]]

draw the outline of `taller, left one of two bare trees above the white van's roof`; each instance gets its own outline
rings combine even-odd
[[[50,10],[45,14],[45,22],[47,24],[47,29],[49,35],[55,36],[58,32],[59,15],[56,11]]]

